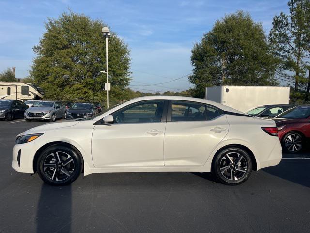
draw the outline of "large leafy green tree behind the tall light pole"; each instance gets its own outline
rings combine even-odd
[[[83,14],[63,13],[48,19],[46,32],[38,45],[31,66],[31,78],[45,89],[48,99],[106,99],[106,44],[101,28],[107,26]],[[112,32],[109,38],[109,82],[111,100],[123,100],[130,81],[130,50]],[[117,95],[115,95],[117,93]]]

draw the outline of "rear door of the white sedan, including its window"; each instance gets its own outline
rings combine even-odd
[[[228,129],[226,116],[216,107],[171,100],[164,140],[165,166],[203,166]]]

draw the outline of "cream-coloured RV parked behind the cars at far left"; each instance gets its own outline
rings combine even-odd
[[[31,83],[0,82],[0,99],[42,100],[44,90]]]

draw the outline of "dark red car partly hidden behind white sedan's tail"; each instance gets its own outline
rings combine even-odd
[[[306,146],[310,138],[310,105],[291,108],[273,120],[284,151],[296,153]]]

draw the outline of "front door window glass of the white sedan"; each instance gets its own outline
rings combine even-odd
[[[160,122],[164,100],[150,100],[131,104],[113,114],[115,123]]]

